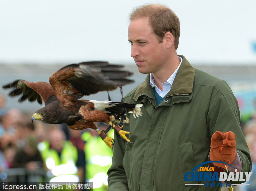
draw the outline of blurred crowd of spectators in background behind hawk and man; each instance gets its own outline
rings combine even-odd
[[[1,174],[10,169],[43,169],[46,176],[37,181],[93,182],[94,191],[107,190],[112,149],[97,132],[75,131],[65,124],[32,123],[31,116],[17,108],[7,110],[5,97],[0,95],[0,181],[6,181],[8,173]],[[97,126],[100,131],[107,128],[104,123]],[[255,114],[241,128],[251,152],[253,173],[250,182],[236,190],[251,191],[256,190],[256,104]],[[113,131],[108,136],[113,137]]]

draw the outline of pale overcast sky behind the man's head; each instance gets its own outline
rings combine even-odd
[[[144,3],[178,15],[190,62],[256,64],[255,0],[0,0],[0,63],[133,63],[127,17]]]

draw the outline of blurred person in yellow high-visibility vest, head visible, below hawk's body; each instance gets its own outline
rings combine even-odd
[[[80,182],[77,163],[77,148],[65,140],[65,134],[59,128],[49,132],[49,141],[38,144],[47,168],[51,170],[53,182]],[[80,173],[79,173],[80,174]]]

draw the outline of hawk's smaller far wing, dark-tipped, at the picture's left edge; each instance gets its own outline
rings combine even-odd
[[[46,82],[28,82],[26,80],[16,80],[11,84],[4,85],[3,88],[14,88],[14,90],[9,93],[9,96],[12,97],[22,94],[22,97],[19,99],[20,102],[28,99],[31,102],[37,100],[39,104],[42,104],[43,100],[46,105],[47,99],[50,96],[55,95],[51,84]]]

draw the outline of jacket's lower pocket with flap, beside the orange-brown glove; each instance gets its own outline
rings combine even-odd
[[[191,170],[195,167],[192,142],[180,144],[179,150],[180,150],[180,167],[181,167],[181,174],[182,174],[182,180],[184,181],[184,185],[195,187],[196,184],[198,184],[198,181],[186,181],[184,179],[185,173],[191,172]],[[186,174],[186,178],[190,179],[190,173]],[[189,184],[194,184],[194,185],[189,185]]]

